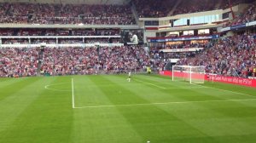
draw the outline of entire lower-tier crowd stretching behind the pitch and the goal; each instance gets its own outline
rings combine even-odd
[[[127,72],[146,66],[163,70],[168,59],[181,59],[177,65],[206,66],[208,73],[250,77],[256,68],[255,43],[255,34],[244,34],[223,37],[212,48],[186,53],[160,52],[163,47],[152,48],[148,53],[141,46],[2,48],[0,77],[36,76],[38,71],[49,75]]]

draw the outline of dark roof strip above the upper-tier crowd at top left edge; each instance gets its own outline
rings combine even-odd
[[[126,4],[131,0],[0,0],[0,3],[84,3],[84,4]]]

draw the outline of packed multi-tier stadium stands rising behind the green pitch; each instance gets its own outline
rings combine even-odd
[[[31,44],[76,44],[85,43],[122,43],[121,28],[119,25],[137,25],[132,6],[135,6],[138,17],[158,18],[177,14],[198,13],[214,9],[228,9],[239,3],[250,3],[242,13],[236,13],[234,20],[228,21],[224,26],[236,26],[256,20],[254,0],[163,0],[155,3],[154,0],[132,0],[126,5],[87,5],[87,4],[56,4],[56,3],[0,3],[0,24],[29,24],[29,25],[113,25],[111,28],[4,28],[0,29],[3,36],[0,43],[5,45],[0,48],[1,77],[26,77],[37,76],[38,72],[49,75],[92,74],[96,72],[122,72],[129,68],[143,70],[145,66],[152,66],[158,71],[164,67],[169,59],[181,59],[178,65],[207,66],[208,73],[224,76],[250,77],[255,68],[255,34],[231,34],[236,36],[222,37],[218,43],[210,40],[192,40],[185,42],[166,42],[161,46],[150,46],[149,54],[143,46],[54,46],[40,49],[30,48]],[[205,4],[207,3],[207,5]],[[228,12],[230,13],[230,11]],[[229,17],[229,16],[228,16]],[[154,21],[154,20],[153,20]],[[170,20],[166,20],[172,25]],[[156,26],[166,26],[166,21]],[[189,20],[185,21],[186,24]],[[149,21],[150,23],[150,21]],[[205,23],[203,23],[205,24]],[[210,23],[214,25],[215,23]],[[221,22],[219,23],[221,24]],[[201,25],[201,24],[195,24]],[[150,26],[150,25],[149,25]],[[182,25],[183,26],[183,25]],[[188,26],[194,26],[192,23]],[[175,28],[183,28],[173,26]],[[127,28],[127,27],[125,27]],[[150,28],[150,27],[149,27]],[[154,28],[154,27],[153,27]],[[168,28],[168,27],[164,27]],[[217,31],[216,27],[213,31]],[[148,29],[145,28],[145,31]],[[209,29],[208,29],[209,30]],[[196,37],[209,37],[210,33],[200,33],[197,29],[194,35],[183,35],[183,30],[172,37],[166,32],[167,38],[189,39]],[[193,30],[192,30],[193,31]],[[129,34],[126,37],[129,40]],[[160,33],[158,33],[160,35]],[[219,34],[219,33],[217,33]],[[175,35],[175,34],[174,34]],[[179,35],[179,36],[178,36]],[[5,36],[5,37],[4,37]],[[13,37],[8,37],[13,36]],[[40,37],[32,37],[40,36]],[[77,37],[78,36],[78,37]],[[80,36],[80,37],[79,37]],[[89,37],[84,37],[89,36]],[[93,36],[93,38],[90,38]],[[94,36],[119,36],[119,37],[94,37]],[[22,37],[22,38],[21,38]],[[48,38],[49,37],[49,38]],[[60,38],[61,37],[61,38]],[[110,40],[111,39],[111,40]],[[157,39],[157,37],[155,37]],[[110,42],[111,41],[111,42]],[[11,48],[8,45],[29,45]],[[7,47],[7,48],[6,48]],[[57,48],[56,48],[57,47]],[[203,49],[202,51],[162,52],[163,49]],[[209,60],[211,59],[211,60]],[[233,63],[235,62],[236,63]],[[38,64],[39,63],[39,64]]]

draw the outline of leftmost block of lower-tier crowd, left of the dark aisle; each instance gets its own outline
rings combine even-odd
[[[27,48],[0,49],[0,77],[36,76],[38,50]]]

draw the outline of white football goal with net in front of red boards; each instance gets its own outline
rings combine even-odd
[[[205,83],[205,66],[172,66],[172,81]]]

